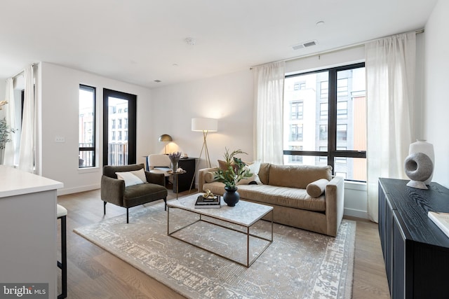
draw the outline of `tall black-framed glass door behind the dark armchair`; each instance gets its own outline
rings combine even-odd
[[[136,99],[135,95],[103,89],[103,165],[135,163]]]

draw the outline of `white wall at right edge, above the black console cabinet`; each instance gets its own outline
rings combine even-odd
[[[433,181],[449,188],[449,2],[439,0],[425,27],[424,137],[435,150]]]

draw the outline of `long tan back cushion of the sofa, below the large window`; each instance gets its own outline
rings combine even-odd
[[[261,178],[262,179],[262,178]],[[319,179],[332,179],[332,167],[311,165],[269,165],[269,185],[305,189]]]

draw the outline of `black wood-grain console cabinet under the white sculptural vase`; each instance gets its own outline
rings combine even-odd
[[[427,216],[449,212],[449,190],[379,179],[379,233],[391,298],[449,298],[449,237]]]

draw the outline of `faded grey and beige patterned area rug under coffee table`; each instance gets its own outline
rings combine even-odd
[[[170,209],[170,231],[195,217]],[[274,223],[273,243],[247,268],[168,236],[163,203],[134,209],[128,224],[125,219],[74,231],[187,298],[351,298],[354,221],[343,220],[335,238]],[[270,233],[271,222],[258,221],[251,231]],[[179,234],[225,256],[246,257],[246,239],[232,230],[201,221]],[[251,256],[256,245],[251,239]]]

